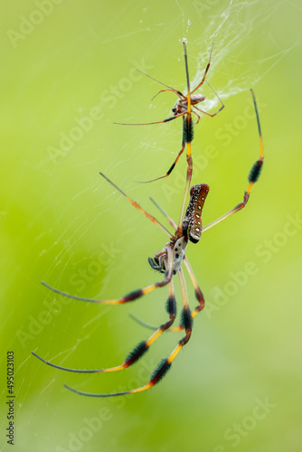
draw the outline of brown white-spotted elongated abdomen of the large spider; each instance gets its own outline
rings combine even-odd
[[[197,243],[203,232],[202,212],[205,198],[209,193],[209,185],[193,185],[190,190],[190,202],[183,221],[183,234],[193,243]]]

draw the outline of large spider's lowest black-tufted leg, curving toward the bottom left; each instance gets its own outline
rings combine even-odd
[[[181,289],[182,289],[182,296],[183,296],[183,304],[184,304],[184,311],[183,311],[183,318],[184,318],[184,329],[185,329],[185,335],[183,339],[179,341],[179,343],[176,345],[174,351],[170,353],[168,358],[162,360],[157,368],[156,371],[152,374],[151,379],[140,388],[130,390],[130,391],[123,391],[123,392],[113,392],[109,394],[98,394],[98,393],[90,393],[90,392],[83,392],[83,391],[77,391],[70,386],[66,386],[65,388],[75,392],[76,394],[80,394],[87,397],[115,397],[120,395],[126,395],[126,394],[134,394],[135,392],[141,392],[146,391],[150,388],[152,388],[156,383],[162,380],[164,378],[166,372],[171,368],[172,362],[175,360],[176,355],[182,350],[185,344],[190,340],[191,333],[192,333],[192,317],[190,314],[190,309],[188,305],[188,296],[186,293],[186,287],[185,287],[185,281],[184,281],[184,273],[182,268],[178,272],[180,283],[181,283]],[[153,337],[155,334],[153,334],[151,337]]]

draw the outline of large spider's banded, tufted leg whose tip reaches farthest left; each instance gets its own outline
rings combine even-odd
[[[61,371],[67,371],[67,372],[77,372],[77,373],[103,373],[103,372],[117,372],[121,371],[123,369],[127,369],[130,365],[137,362],[139,358],[143,356],[144,353],[147,352],[150,345],[153,344],[157,337],[160,336],[160,334],[164,333],[165,330],[170,328],[171,325],[173,325],[175,321],[176,316],[176,303],[175,303],[175,289],[173,285],[173,279],[168,284],[169,287],[169,297],[167,302],[167,308],[168,308],[168,314],[169,314],[169,320],[165,322],[165,324],[160,325],[156,328],[156,333],[152,334],[146,341],[142,341],[132,350],[132,352],[128,353],[127,358],[125,359],[124,363],[120,364],[119,366],[115,367],[109,367],[107,369],[93,369],[93,370],[86,370],[86,369],[71,369],[69,367],[62,367],[57,364],[52,364],[49,361],[44,360],[39,356],[38,354],[33,353],[33,356],[38,358],[42,363],[48,364],[56,369],[60,369]]]

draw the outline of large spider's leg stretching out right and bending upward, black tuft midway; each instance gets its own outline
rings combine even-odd
[[[262,164],[263,164],[263,158],[264,158],[264,155],[263,155],[263,141],[262,141],[262,135],[261,135],[260,118],[259,118],[259,113],[258,113],[258,108],[257,108],[257,103],[256,103],[254,91],[252,89],[250,89],[250,92],[251,92],[252,99],[253,99],[253,102],[254,102],[256,118],[257,118],[257,124],[258,124],[258,132],[259,132],[259,137],[260,137],[260,157],[257,160],[257,162],[255,162],[254,165],[252,165],[252,167],[250,169],[250,174],[249,174],[249,178],[248,178],[249,186],[248,186],[247,191],[244,193],[243,201],[240,202],[239,204],[237,204],[233,209],[231,209],[231,211],[224,213],[224,215],[222,215],[217,220],[212,221],[210,224],[207,224],[206,226],[204,226],[203,232],[209,230],[210,228],[212,228],[213,226],[215,226],[219,222],[221,222],[221,221],[225,220],[226,218],[230,217],[233,213],[241,211],[241,209],[243,209],[243,207],[245,207],[247,202],[249,201],[250,192],[251,192],[251,189],[252,189],[253,185],[259,179],[260,171],[261,171]]]

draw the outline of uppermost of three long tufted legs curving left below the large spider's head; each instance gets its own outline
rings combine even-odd
[[[168,245],[166,246],[166,250],[167,250],[167,265],[165,271],[165,278],[162,279],[161,281],[157,281],[155,284],[152,284],[151,286],[138,288],[137,290],[134,290],[133,292],[130,292],[129,294],[121,298],[113,300],[96,300],[93,298],[77,297],[75,295],[67,294],[66,292],[62,292],[57,288],[49,286],[49,284],[46,284],[44,281],[41,281],[41,283],[43,286],[51,289],[52,292],[62,295],[63,297],[72,298],[73,300],[87,301],[89,303],[97,303],[99,305],[122,305],[124,303],[128,303],[129,301],[133,301],[136,300],[137,298],[143,297],[144,295],[148,294],[149,292],[152,292],[158,287],[164,287],[171,281],[173,276],[173,254],[171,248]]]

